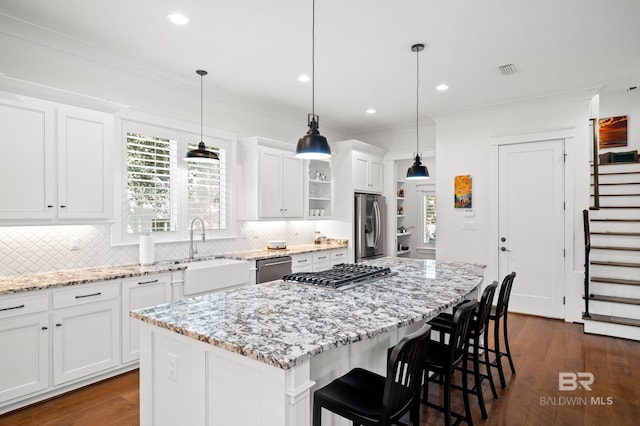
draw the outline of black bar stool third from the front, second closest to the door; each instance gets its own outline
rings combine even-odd
[[[483,351],[484,359],[480,359],[480,348],[482,347],[480,339],[483,338],[485,342],[487,341],[489,330],[489,314],[491,313],[491,304],[493,303],[493,298],[495,296],[497,288],[498,282],[494,281],[484,289],[484,291],[482,292],[482,297],[480,298],[480,303],[478,304],[473,318],[471,318],[471,325],[469,330],[468,344],[473,349],[473,352],[467,352],[467,357],[473,362],[474,387],[469,389],[468,392],[477,396],[478,405],[480,406],[480,412],[482,413],[482,418],[485,420],[487,420],[489,416],[487,414],[487,408],[484,404],[482,381],[484,379],[489,380],[489,385],[491,386],[491,392],[494,399],[498,399],[498,393],[496,392],[496,386],[493,383],[493,375],[491,374],[489,352]],[[454,313],[457,311],[458,306],[454,306]],[[431,319],[429,321],[429,325],[431,325],[432,330],[438,331],[441,337],[444,334],[451,334],[451,330],[453,328],[453,315],[442,312],[435,318]],[[486,374],[480,372],[480,364],[485,366]],[[459,388],[458,386],[453,387],[456,389]]]

